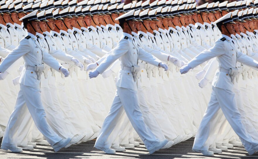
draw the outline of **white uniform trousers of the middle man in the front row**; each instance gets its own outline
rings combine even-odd
[[[117,87],[117,92],[110,108],[108,116],[103,122],[99,137],[96,140],[95,146],[110,148],[112,139],[109,138],[116,124],[118,124],[120,117],[126,113],[135,131],[145,144],[147,149],[159,143],[152,131],[147,127],[143,121],[142,113],[140,111],[137,91],[133,89],[126,89]]]

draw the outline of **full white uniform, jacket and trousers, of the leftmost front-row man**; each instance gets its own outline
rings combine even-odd
[[[44,62],[53,69],[59,71],[59,68],[62,65],[51,55],[44,52],[35,35],[28,33],[28,36],[23,38],[19,46],[2,62],[0,65],[1,72],[4,72],[21,56],[23,56],[25,62],[25,68],[23,69],[19,80],[21,90],[18,93],[15,109],[11,114],[8,126],[6,127],[2,146],[17,147],[15,133],[27,111],[30,111],[37,128],[45,136],[48,143],[53,146],[55,143],[61,141],[62,138],[60,138],[48,125],[40,99],[40,80],[37,79],[36,72],[26,68],[26,66],[34,67],[35,65],[41,65],[42,62]]]

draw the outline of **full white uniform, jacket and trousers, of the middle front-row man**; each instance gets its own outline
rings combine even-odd
[[[128,33],[123,33],[123,38],[121,38],[117,47],[113,49],[112,53],[106,57],[96,70],[102,74],[118,58],[121,61],[121,70],[119,71],[116,83],[117,92],[95,146],[103,148],[111,147],[112,139],[109,136],[116,124],[118,124],[120,116],[125,112],[135,131],[145,143],[147,150],[151,151],[153,146],[159,143],[159,140],[143,121],[137,97],[136,82],[134,82],[132,72],[129,68],[137,65],[138,58],[155,66],[158,66],[160,61],[142,50],[142,48],[138,48],[133,41],[132,35]]]

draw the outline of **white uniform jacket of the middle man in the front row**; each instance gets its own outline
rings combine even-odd
[[[123,70],[122,67],[131,68],[137,65],[137,60],[143,60],[152,65],[158,66],[160,60],[139,48],[133,40],[133,36],[123,33],[121,40],[116,48],[112,50],[106,59],[97,67],[99,73],[103,73],[114,61],[119,58],[121,62],[121,70],[118,73],[116,86],[137,90],[136,82],[133,80],[131,71]]]

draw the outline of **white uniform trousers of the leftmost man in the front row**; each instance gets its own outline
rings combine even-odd
[[[45,110],[40,98],[40,89],[24,86],[23,84],[20,84],[20,87],[21,90],[18,93],[14,111],[8,121],[2,146],[17,146],[16,132],[27,111],[30,112],[35,125],[51,146],[61,141],[62,138],[47,124]]]

